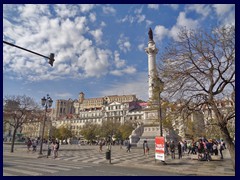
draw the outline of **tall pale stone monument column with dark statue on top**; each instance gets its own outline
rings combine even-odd
[[[148,35],[148,47],[145,48],[145,52],[148,55],[148,97],[151,101],[153,98],[153,88],[155,84],[154,77],[157,77],[156,54],[158,53],[158,49],[156,48],[155,42],[153,40],[151,28],[149,28]]]

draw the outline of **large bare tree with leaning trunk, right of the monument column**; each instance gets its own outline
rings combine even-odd
[[[185,111],[207,107],[214,113],[213,123],[222,132],[235,168],[235,146],[227,128],[235,119],[235,108],[226,113],[217,103],[224,97],[235,96],[235,26],[209,32],[183,28],[178,40],[165,49],[160,62],[165,97],[181,100],[181,109]]]

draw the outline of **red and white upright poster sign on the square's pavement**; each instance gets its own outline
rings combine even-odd
[[[155,137],[155,159],[165,161],[164,146],[164,137]]]

